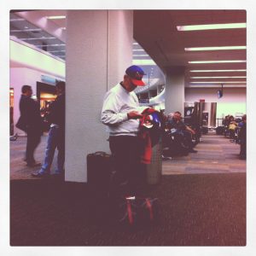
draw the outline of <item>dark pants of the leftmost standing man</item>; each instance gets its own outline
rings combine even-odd
[[[26,162],[28,165],[31,165],[35,162],[34,151],[41,141],[42,132],[31,128],[26,131],[26,135]]]

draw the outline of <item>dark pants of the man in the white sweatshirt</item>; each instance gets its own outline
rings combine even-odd
[[[141,163],[143,141],[138,137],[109,137],[109,148],[113,154],[115,175],[113,193],[137,195],[145,184],[146,166]]]

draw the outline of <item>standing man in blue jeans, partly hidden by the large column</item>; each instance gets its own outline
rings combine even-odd
[[[65,161],[65,82],[56,84],[57,97],[49,106],[48,120],[50,125],[47,147],[45,150],[44,164],[38,172],[32,173],[33,177],[49,176],[50,166],[54,159],[55,148],[58,148],[57,168],[55,174],[64,174]]]

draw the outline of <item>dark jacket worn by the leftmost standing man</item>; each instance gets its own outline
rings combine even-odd
[[[28,130],[42,131],[43,120],[40,114],[40,105],[30,96],[20,97],[20,118]]]

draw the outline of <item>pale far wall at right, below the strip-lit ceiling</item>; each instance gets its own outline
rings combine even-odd
[[[185,102],[217,102],[216,118],[223,118],[227,114],[236,116],[236,113],[247,112],[246,88],[224,88],[224,96],[218,99],[219,88],[186,88]]]

